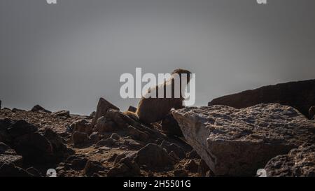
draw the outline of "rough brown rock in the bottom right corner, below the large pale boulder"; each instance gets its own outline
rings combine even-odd
[[[315,177],[315,145],[300,146],[266,164],[267,176]]]

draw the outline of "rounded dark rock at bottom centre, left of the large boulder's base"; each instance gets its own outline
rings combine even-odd
[[[165,168],[173,164],[167,151],[154,143],[148,143],[144,148],[141,148],[137,152],[135,161],[139,166],[146,166],[148,169]]]

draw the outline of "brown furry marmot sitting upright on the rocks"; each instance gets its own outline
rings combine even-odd
[[[179,98],[175,98],[174,96],[174,78],[176,78],[175,74],[179,74],[180,79],[180,95]],[[183,108],[183,96],[182,96],[182,90],[181,90],[181,74],[185,73],[187,74],[187,84],[190,81],[190,71],[185,69],[176,69],[171,73],[171,78],[169,80],[165,81],[165,83],[162,83],[160,85],[156,85],[155,87],[151,87],[148,89],[148,93],[151,91],[156,91],[157,98],[151,98],[151,97],[142,97],[139,101],[137,111],[136,113],[133,113],[131,111],[126,111],[125,114],[128,115],[130,118],[133,118],[134,120],[139,120],[141,122],[144,122],[146,124],[150,124],[152,122],[158,122],[159,120],[162,120],[167,115],[169,115],[169,112],[172,108],[179,109]],[[166,90],[167,86],[172,85],[172,98],[166,98]],[[185,85],[185,87],[186,87]],[[161,88],[164,88],[164,97],[158,98],[158,90]]]

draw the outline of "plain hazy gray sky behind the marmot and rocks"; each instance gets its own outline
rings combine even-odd
[[[120,74],[196,73],[196,106],[241,90],[314,78],[315,1],[0,1],[0,99],[90,114],[125,110]]]

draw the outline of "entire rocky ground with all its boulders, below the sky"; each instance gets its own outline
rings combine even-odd
[[[88,116],[0,101],[0,176],[315,176],[314,82],[228,95],[151,125],[103,98]]]

